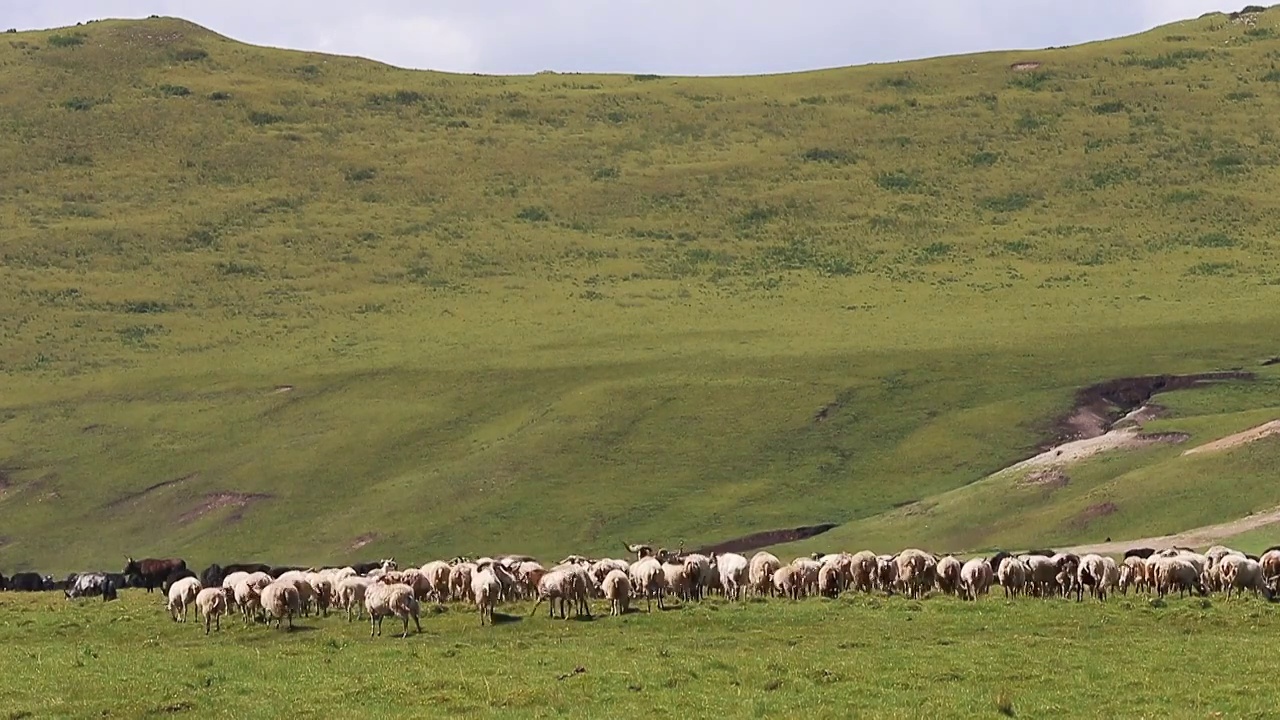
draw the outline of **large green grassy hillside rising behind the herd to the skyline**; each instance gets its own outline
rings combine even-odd
[[[1106,378],[1256,370],[1169,396],[1196,443],[1280,416],[1280,12],[1251,18],[750,78],[6,33],[0,568],[1275,506],[1275,438],[983,480]]]

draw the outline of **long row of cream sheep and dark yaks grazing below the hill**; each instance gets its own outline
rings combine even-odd
[[[622,615],[632,602],[646,610],[667,607],[673,598],[696,602],[710,594],[727,600],[746,596],[800,600],[836,597],[845,592],[954,594],[977,601],[993,587],[1005,597],[1070,598],[1088,593],[1105,601],[1110,594],[1176,592],[1207,596],[1211,592],[1245,592],[1271,601],[1280,597],[1280,547],[1261,556],[1215,546],[1206,552],[1190,548],[1134,548],[1119,561],[1101,555],[1075,555],[1050,550],[1024,553],[997,552],[968,560],[937,556],[922,550],[897,555],[814,553],[782,564],[769,552],[744,555],[671,552],[646,544],[626,544],[635,560],[590,559],[571,555],[545,568],[524,555],[454,557],[421,568],[399,569],[394,559],[347,566],[301,568],[265,564],[210,565],[198,577],[180,559],[128,559],[120,573],[78,573],[54,580],[36,573],[0,575],[0,589],[38,592],[61,589],[68,600],[114,600],[124,588],[159,589],[169,615],[186,621],[192,607],[204,618],[205,633],[221,628],[229,612],[244,623],[293,626],[296,618],[343,611],[347,620],[369,618],[370,634],[381,634],[385,618],[402,621],[403,635],[412,620],[421,632],[421,602],[463,603],[474,607],[480,624],[493,623],[503,602],[534,601],[531,615],[544,602],[559,618],[590,616],[591,598],[605,600],[609,615]]]

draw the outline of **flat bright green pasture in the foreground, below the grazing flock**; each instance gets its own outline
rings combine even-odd
[[[475,612],[451,607],[407,639],[387,634],[389,621],[371,639],[367,624],[333,616],[302,619],[292,633],[234,618],[206,638],[137,591],[106,605],[3,594],[0,639],[12,650],[0,655],[0,703],[12,717],[239,717],[283,706],[339,716],[681,707],[694,717],[1043,717],[1082,705],[1115,717],[1242,717],[1274,705],[1257,688],[1271,676],[1262,638],[1277,616],[1253,598],[845,596],[621,619],[598,602],[605,615],[590,623],[503,610],[520,620],[481,628]],[[1204,678],[1215,692],[1187,692]]]

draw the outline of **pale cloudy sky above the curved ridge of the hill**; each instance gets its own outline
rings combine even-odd
[[[753,74],[1103,40],[1213,0],[0,0],[20,29],[177,15],[252,42],[477,73]]]

